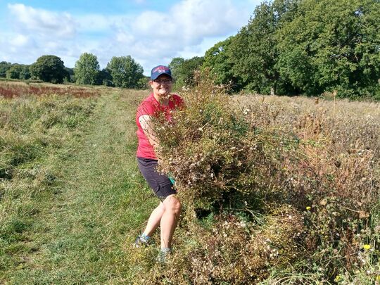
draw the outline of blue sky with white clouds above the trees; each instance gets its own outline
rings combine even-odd
[[[0,0],[0,61],[59,56],[72,68],[94,53],[101,68],[132,56],[148,75],[172,58],[203,56],[248,23],[261,0]]]

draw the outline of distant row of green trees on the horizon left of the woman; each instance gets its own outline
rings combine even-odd
[[[53,55],[41,56],[32,65],[0,62],[0,77],[135,89],[146,87],[143,72],[131,56],[113,56],[106,68],[100,70],[99,61],[92,53],[82,53],[74,68],[66,68],[61,58]]]

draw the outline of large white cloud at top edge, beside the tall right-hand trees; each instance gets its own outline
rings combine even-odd
[[[237,32],[248,22],[248,9],[229,0],[184,0],[168,13],[146,11],[132,24],[143,37],[161,37],[177,44],[198,44],[204,37]]]

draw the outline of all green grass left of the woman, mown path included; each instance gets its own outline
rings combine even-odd
[[[135,107],[145,95],[1,99],[0,283],[130,279],[125,243],[156,203],[134,158]],[[50,122],[67,110],[77,124]]]

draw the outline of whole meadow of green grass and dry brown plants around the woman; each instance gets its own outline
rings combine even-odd
[[[148,91],[0,94],[0,283],[380,282],[379,103],[182,90],[161,167],[184,212],[159,267],[157,234],[132,247],[157,203],[135,161]]]

